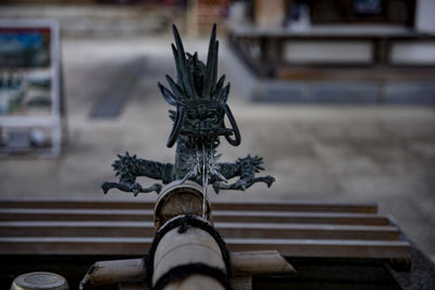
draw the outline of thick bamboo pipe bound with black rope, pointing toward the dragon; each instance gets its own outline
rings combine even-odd
[[[190,180],[165,186],[156,202],[154,225],[159,238],[150,250],[153,288],[224,290],[229,285],[227,250],[200,186]]]

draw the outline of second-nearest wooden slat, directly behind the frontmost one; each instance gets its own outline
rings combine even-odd
[[[224,238],[398,240],[393,226],[215,223]],[[0,237],[137,237],[156,235],[151,222],[0,222]]]

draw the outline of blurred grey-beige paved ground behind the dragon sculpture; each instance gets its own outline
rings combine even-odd
[[[170,106],[157,81],[173,74],[170,38],[65,40],[63,58],[69,109],[69,143],[57,160],[11,156],[0,160],[0,197],[101,198],[99,186],[114,180],[116,153],[172,162],[165,142]],[[206,41],[185,40],[204,58]],[[224,46],[222,46],[224,47]],[[191,51],[191,49],[187,49]],[[223,49],[223,72],[232,71]],[[90,119],[101,96],[116,88],[125,63],[144,61],[142,77],[127,105],[111,121]],[[243,134],[239,148],[222,146],[224,161],[262,155],[271,189],[222,192],[216,199],[372,201],[389,213],[428,254],[435,256],[435,110],[418,106],[293,105],[246,103],[244,84],[232,78],[233,108]],[[142,180],[144,184],[147,180]],[[139,199],[154,199],[144,196]]]

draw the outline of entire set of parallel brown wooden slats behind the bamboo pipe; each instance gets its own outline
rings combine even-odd
[[[0,254],[146,253],[152,202],[0,201]],[[372,203],[214,202],[213,220],[231,251],[284,256],[409,259],[388,216]]]

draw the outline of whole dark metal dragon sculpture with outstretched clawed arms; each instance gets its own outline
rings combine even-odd
[[[173,25],[175,46],[172,51],[175,59],[177,81],[166,75],[170,89],[158,84],[164,100],[175,106],[170,110],[170,118],[174,122],[166,146],[176,142],[175,164],[160,163],[136,155],[117,155],[113,163],[119,182],[103,182],[101,188],[107,193],[111,188],[133,192],[160,192],[162,185],[153,184],[144,188],[136,181],[137,177],[146,176],[159,179],[162,184],[174,180],[189,179],[203,186],[213,185],[215,192],[221,189],[245,190],[256,182],[265,182],[268,187],[275,180],[272,176],[257,177],[256,174],[264,168],[262,159],[248,155],[234,163],[219,163],[216,148],[220,138],[224,137],[232,146],[240,144],[240,133],[237,123],[226,103],[229,84],[224,85],[225,75],[217,77],[216,27],[213,26],[207,65],[198,60],[198,54],[185,53],[179,34]],[[225,126],[227,117],[231,128]],[[233,184],[228,179],[238,177]]]

